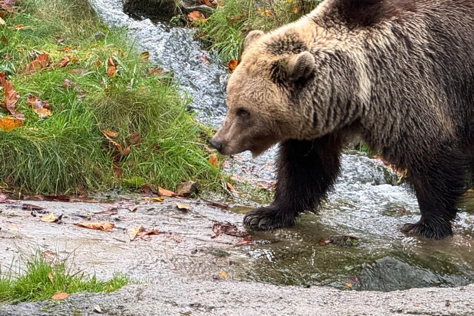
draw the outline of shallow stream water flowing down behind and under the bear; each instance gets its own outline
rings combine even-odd
[[[107,24],[128,27],[152,62],[174,71],[202,123],[218,126],[225,114],[228,75],[217,57],[193,39],[192,30],[133,19],[122,12],[120,0],[91,2]],[[244,153],[231,168],[249,180],[274,181],[274,153],[258,159]],[[419,218],[409,186],[397,183],[378,160],[345,153],[334,192],[320,212],[301,216],[291,229],[255,233],[256,243],[235,255],[233,277],[379,291],[466,285],[474,282],[473,209],[474,194],[468,192],[453,237],[407,237],[400,227]]]

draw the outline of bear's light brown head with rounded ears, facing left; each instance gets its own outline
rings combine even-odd
[[[224,123],[211,139],[221,154],[250,151],[255,157],[276,143],[305,138],[312,114],[295,107],[302,98],[311,98],[304,88],[313,76],[315,58],[306,50],[295,53],[274,43],[262,31],[245,38],[241,62],[227,84]]]

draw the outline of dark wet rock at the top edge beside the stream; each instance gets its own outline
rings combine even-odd
[[[124,12],[135,17],[169,21],[176,15],[174,0],[122,0]]]

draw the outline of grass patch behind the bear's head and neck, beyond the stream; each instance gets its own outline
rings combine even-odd
[[[270,0],[256,6],[252,0],[224,0],[199,25],[202,40],[224,61],[238,59],[245,35],[254,29],[269,31],[309,13],[320,0]]]

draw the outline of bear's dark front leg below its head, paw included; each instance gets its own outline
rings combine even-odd
[[[314,210],[334,184],[341,143],[335,135],[282,143],[276,161],[275,201],[248,212],[244,225],[252,230],[290,227],[299,213]]]

